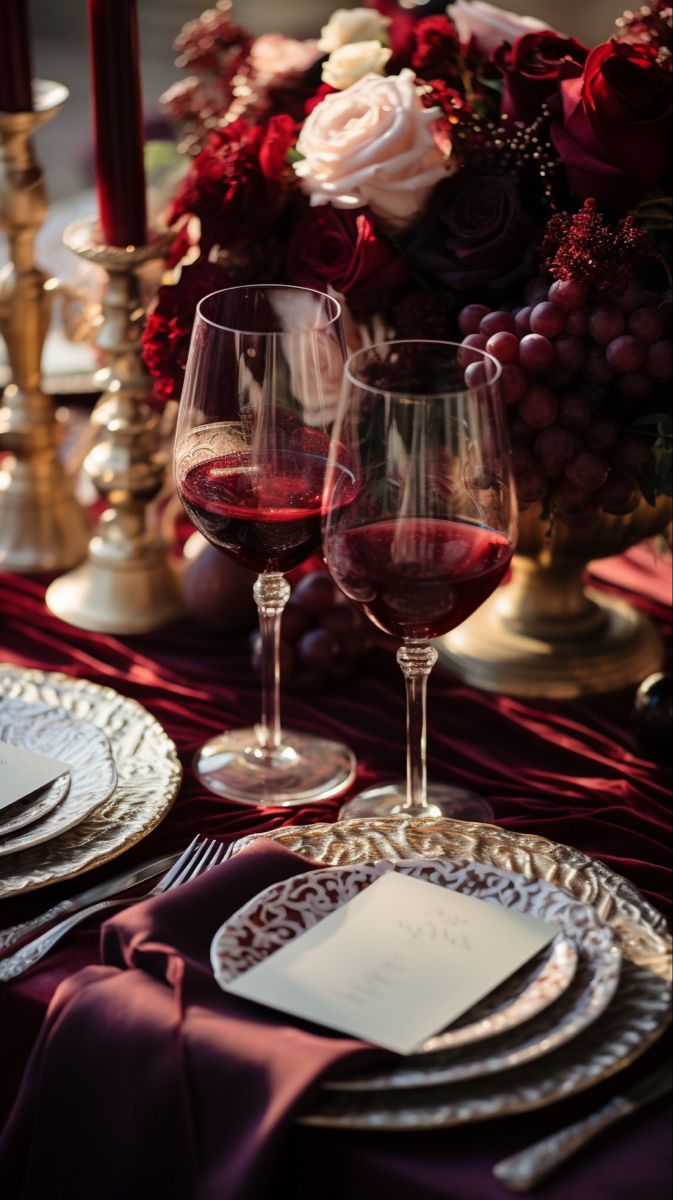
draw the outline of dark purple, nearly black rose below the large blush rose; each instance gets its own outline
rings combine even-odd
[[[456,292],[501,293],[534,274],[537,232],[511,175],[468,167],[434,192],[409,258]]]

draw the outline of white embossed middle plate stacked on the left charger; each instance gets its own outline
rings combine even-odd
[[[60,758],[70,767],[70,788],[62,803],[28,828],[0,838],[2,858],[41,846],[84,821],[114,791],[116,768],[106,734],[62,708],[4,697],[0,726],[5,742]]]

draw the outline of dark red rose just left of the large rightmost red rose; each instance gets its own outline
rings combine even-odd
[[[588,53],[573,37],[552,30],[524,34],[512,46],[504,42],[493,55],[505,77],[501,113],[515,121],[534,121],[545,101],[558,94],[561,79],[582,74]]]

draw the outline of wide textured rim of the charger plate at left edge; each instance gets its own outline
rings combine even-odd
[[[181,779],[175,746],[158,721],[112,688],[55,672],[0,665],[0,700],[40,702],[101,730],[116,787],[66,833],[0,862],[0,899],[82,875],[134,846],[166,816]]]

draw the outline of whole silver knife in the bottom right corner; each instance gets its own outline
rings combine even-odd
[[[565,1163],[576,1151],[585,1146],[591,1138],[607,1129],[608,1126],[621,1117],[635,1112],[643,1104],[659,1099],[671,1091],[673,1085],[673,1068],[669,1062],[659,1067],[651,1075],[647,1075],[633,1087],[630,1087],[621,1096],[614,1096],[612,1100],[603,1104],[583,1121],[566,1126],[557,1133],[542,1138],[533,1146],[504,1158],[493,1168],[495,1178],[504,1183],[510,1192],[530,1192],[541,1180]]]

